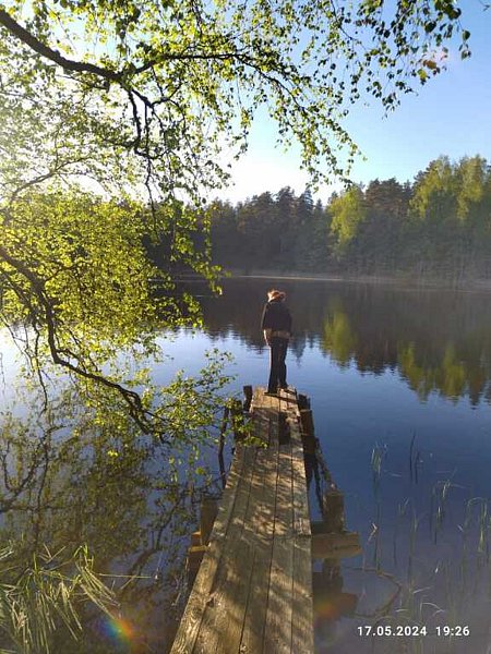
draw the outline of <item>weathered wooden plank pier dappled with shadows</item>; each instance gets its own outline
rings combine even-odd
[[[295,389],[255,389],[171,654],[313,653],[311,525]],[[200,554],[200,545],[195,548]]]

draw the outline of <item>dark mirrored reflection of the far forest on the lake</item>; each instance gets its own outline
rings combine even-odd
[[[202,300],[212,341],[264,348],[259,315],[268,280],[226,280],[220,298]],[[477,292],[417,291],[314,281],[280,283],[294,314],[290,352],[319,348],[346,367],[397,371],[421,400],[432,392],[472,405],[491,399],[491,304]]]

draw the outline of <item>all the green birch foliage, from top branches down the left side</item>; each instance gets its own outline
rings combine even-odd
[[[393,108],[450,43],[467,57],[460,17],[451,0],[0,4],[1,315],[33,327],[34,371],[50,360],[153,428],[152,401],[103,368],[120,348],[152,353],[157,327],[196,324],[176,274],[213,287],[217,270],[196,246],[206,215],[185,207],[226,182],[264,109],[313,185],[346,178],[352,105]],[[159,240],[157,305],[142,243]]]

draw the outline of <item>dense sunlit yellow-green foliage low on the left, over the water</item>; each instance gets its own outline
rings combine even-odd
[[[187,265],[215,286],[206,243],[200,253],[193,241],[199,227],[196,216],[179,205],[152,214],[135,202],[105,201],[76,189],[23,192],[5,213],[2,318],[26,324],[23,348],[39,379],[49,378],[51,364],[59,364],[100,427],[108,422],[109,429],[128,429],[130,412],[141,429],[163,441],[185,440],[193,429],[191,413],[178,428],[166,408],[156,408],[151,365],[159,356],[155,337],[160,330],[200,324],[196,300],[176,293],[175,269]],[[159,268],[143,245],[154,232],[166,240]],[[151,278],[158,280],[157,295]],[[225,378],[213,370],[216,392],[208,395],[219,402]],[[188,389],[191,396],[191,386],[177,383],[168,392]],[[142,387],[146,390],[140,392]],[[209,424],[209,411],[206,416]],[[204,429],[204,419],[201,424]]]

